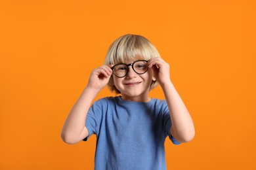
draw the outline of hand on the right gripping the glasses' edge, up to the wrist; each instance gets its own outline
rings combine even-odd
[[[148,60],[148,68],[152,68],[156,80],[162,86],[163,84],[170,82],[170,66],[161,58],[152,58]]]

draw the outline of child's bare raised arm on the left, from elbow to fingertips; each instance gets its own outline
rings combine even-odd
[[[61,137],[65,143],[78,143],[89,135],[85,127],[87,112],[97,93],[108,83],[111,74],[112,70],[106,65],[92,71],[85,90],[83,90],[83,93],[70,111],[70,114],[68,114],[62,128]]]

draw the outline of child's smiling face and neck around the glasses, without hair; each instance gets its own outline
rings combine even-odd
[[[129,61],[127,64],[133,62],[134,61]],[[129,65],[129,71],[126,76],[119,78],[113,75],[114,84],[117,90],[121,92],[122,99],[140,102],[147,102],[150,100],[148,92],[152,83],[152,77],[152,69],[148,69],[146,73],[139,75],[135,73],[131,65]]]

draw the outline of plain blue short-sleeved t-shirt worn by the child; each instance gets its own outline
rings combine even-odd
[[[165,138],[171,119],[165,100],[147,103],[106,97],[89,109],[85,126],[96,134],[95,169],[166,169]],[[88,137],[84,139],[87,141]]]

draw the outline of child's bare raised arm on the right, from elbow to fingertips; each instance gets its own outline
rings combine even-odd
[[[195,134],[194,124],[179,93],[171,82],[169,64],[161,58],[154,58],[148,61],[148,67],[153,69],[154,76],[163,89],[171,116],[171,135],[181,143],[191,141]]]

